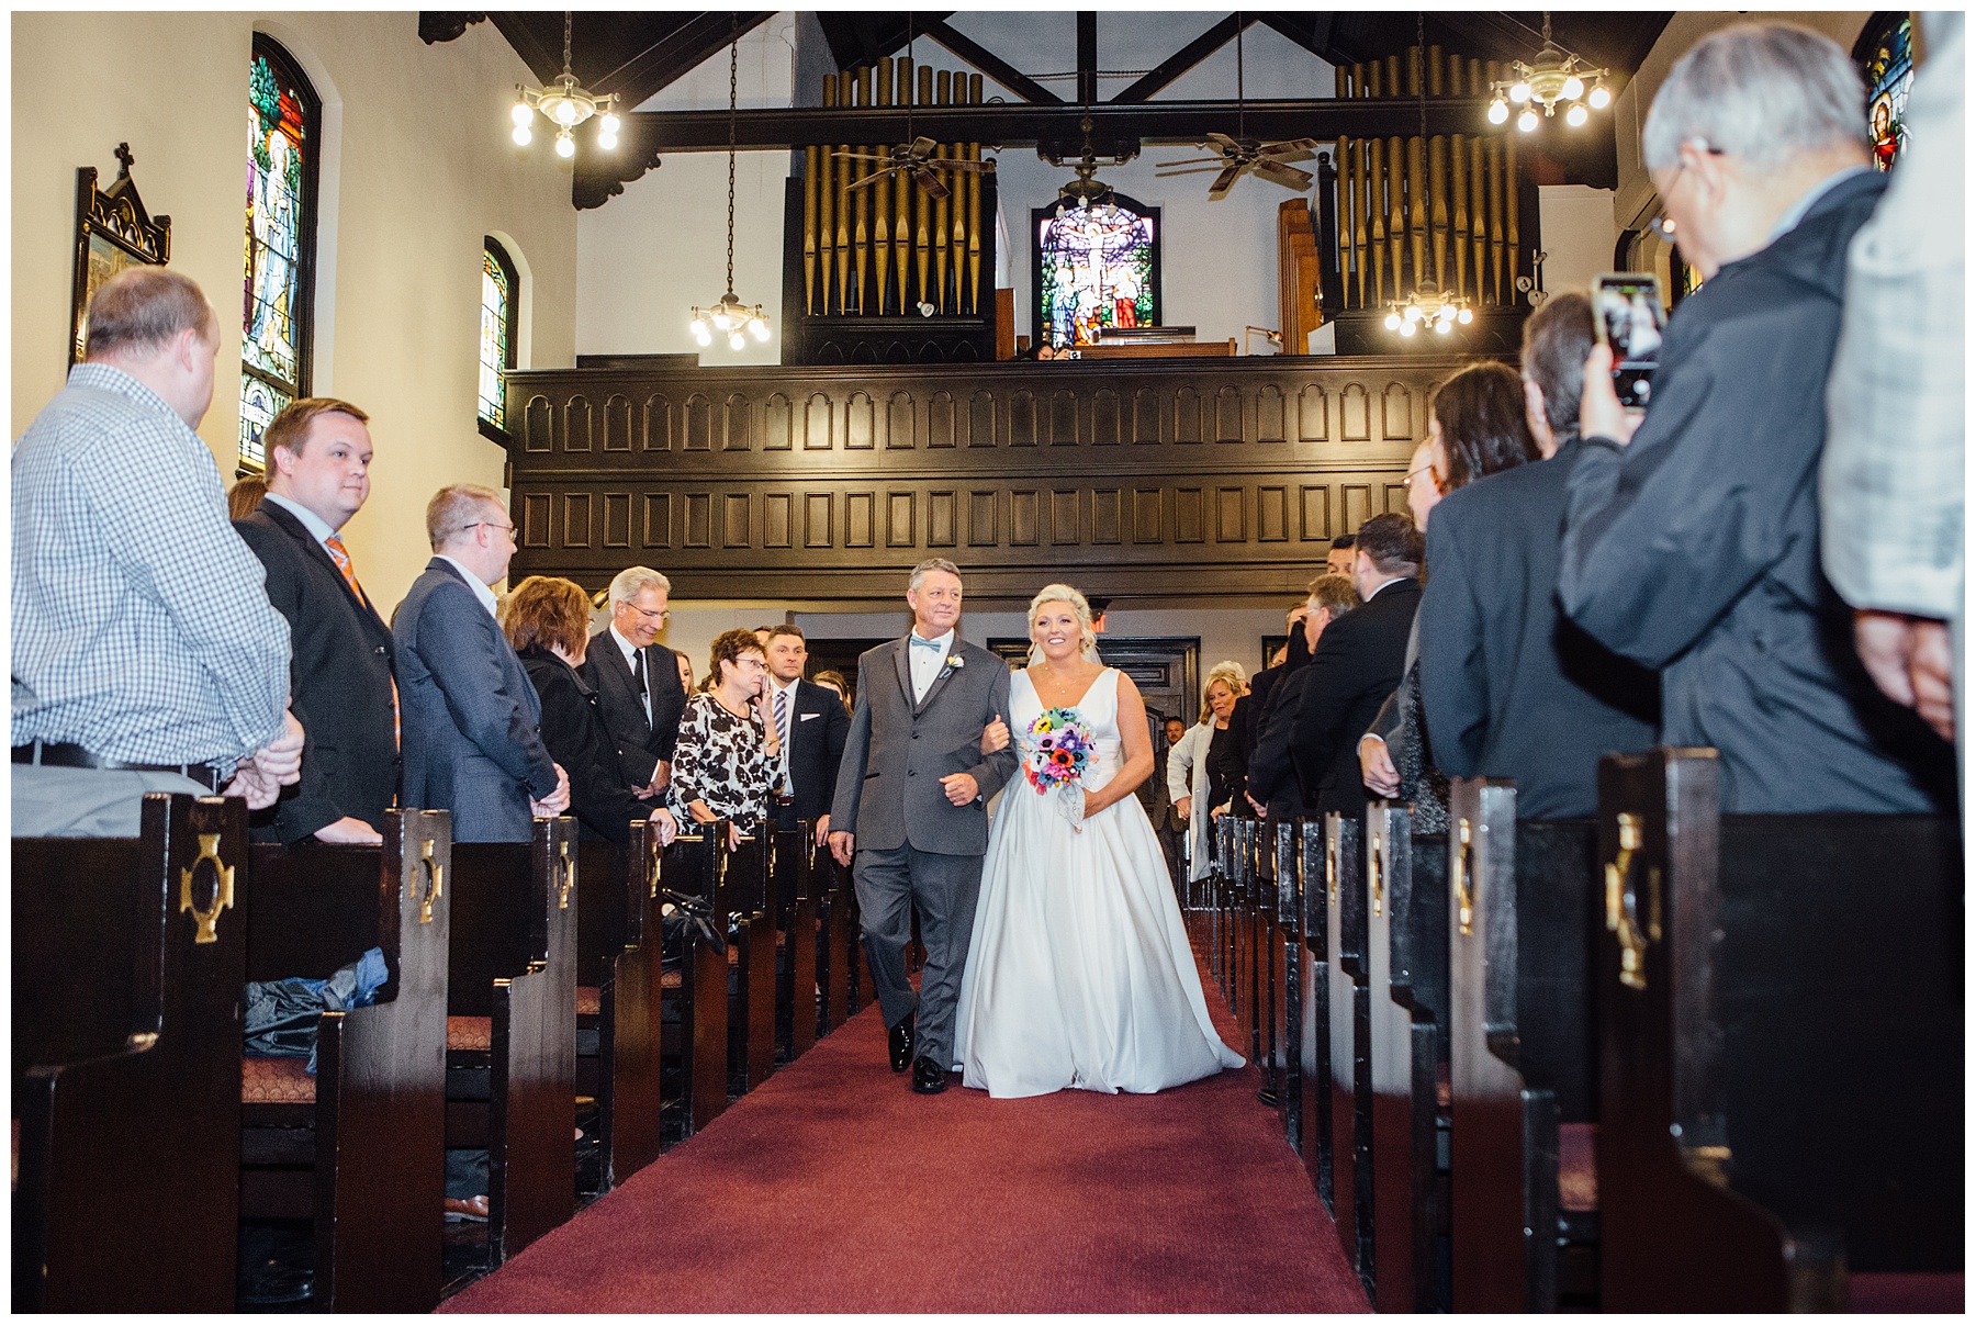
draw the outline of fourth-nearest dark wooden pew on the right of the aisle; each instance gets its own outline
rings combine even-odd
[[[1332,1222],[1365,1291],[1371,1282],[1371,975],[1365,964],[1363,823],[1324,816],[1332,1019]]]

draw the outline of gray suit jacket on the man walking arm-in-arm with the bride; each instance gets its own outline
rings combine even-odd
[[[980,752],[982,729],[996,715],[1008,717],[1008,663],[958,634],[917,707],[907,642],[865,652],[830,827],[858,833],[860,847],[877,851],[911,843],[935,855],[984,853],[988,800],[1016,772],[1014,746]],[[941,790],[950,772],[972,774],[980,800],[950,806]]]

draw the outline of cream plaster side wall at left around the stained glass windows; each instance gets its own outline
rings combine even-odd
[[[221,316],[219,383],[200,434],[231,474],[253,32],[283,41],[324,97],[314,389],[371,415],[371,500],[344,531],[379,604],[425,567],[425,504],[502,484],[474,423],[480,241],[532,273],[524,367],[575,348],[569,170],[508,140],[528,67],[492,24],[425,45],[413,12],[16,14],[12,20],[12,429],[61,387],[75,168],[117,174],[130,142],[146,205],[172,217],[172,267]],[[45,89],[63,89],[49,97]]]

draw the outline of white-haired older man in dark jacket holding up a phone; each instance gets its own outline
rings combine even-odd
[[[1721,752],[1727,810],[1938,810],[1942,746],[1865,677],[1818,565],[1846,245],[1885,186],[1859,75],[1824,36],[1735,24],[1674,67],[1640,146],[1705,284],[1668,324],[1644,419],[1606,348],[1585,365],[1565,612],[1662,671],[1662,739]]]

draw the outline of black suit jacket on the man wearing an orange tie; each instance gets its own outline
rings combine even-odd
[[[288,618],[288,707],[304,737],[302,780],[253,816],[253,835],[292,843],[342,818],[383,831],[397,794],[391,630],[279,502],[261,502],[233,529],[267,567],[267,598]]]

